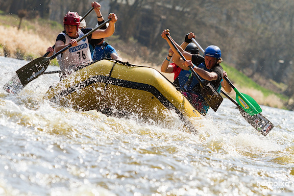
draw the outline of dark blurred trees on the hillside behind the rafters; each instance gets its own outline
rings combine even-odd
[[[148,49],[152,56],[150,61],[161,61],[161,53],[168,50],[160,35],[163,29],[169,28],[172,38],[179,44],[185,34],[194,32],[202,48],[219,46],[226,63],[252,77],[263,75],[287,83],[289,73],[294,69],[293,0],[103,2],[108,2],[109,11],[119,18],[115,34],[122,40],[134,39],[138,45]],[[0,9],[12,14],[25,9],[32,18],[40,14],[42,18],[49,16],[51,20],[62,23],[67,11],[83,15],[90,8],[90,3],[91,0],[0,0]],[[94,14],[87,17],[87,25],[96,25]]]

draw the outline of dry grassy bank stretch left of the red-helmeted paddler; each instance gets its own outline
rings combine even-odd
[[[43,56],[55,43],[63,26],[44,19],[22,20],[0,13],[0,55],[31,61]],[[54,61],[53,61],[54,62]]]

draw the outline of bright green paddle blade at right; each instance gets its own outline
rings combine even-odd
[[[262,112],[262,109],[253,98],[243,93],[240,94],[241,95],[236,94],[236,100],[239,105],[245,110],[245,112],[247,112],[251,116]]]

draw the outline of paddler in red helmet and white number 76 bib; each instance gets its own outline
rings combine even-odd
[[[100,4],[98,2],[92,2],[91,5],[97,13],[97,10],[100,9]],[[101,39],[109,37],[114,33],[115,23],[118,18],[113,13],[109,14],[108,18],[111,19],[111,21],[106,29],[97,29],[87,38],[76,42],[77,38],[82,37],[93,28],[79,29],[80,17],[76,12],[68,12],[64,16],[63,24],[65,30],[59,33],[56,38],[55,52],[67,47],[69,44],[72,45],[72,47],[64,51],[58,61],[61,70],[61,78],[73,73],[78,67],[92,62],[89,39]]]

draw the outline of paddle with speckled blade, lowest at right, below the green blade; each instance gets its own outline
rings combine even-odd
[[[244,119],[251,124],[256,130],[258,130],[261,134],[266,136],[270,130],[274,127],[270,121],[264,117],[262,114],[255,114],[255,115],[248,115],[248,113],[229,95],[227,95],[225,92],[221,90],[221,93],[230,99],[239,109],[241,115],[244,117]]]

